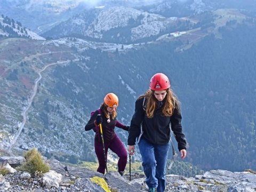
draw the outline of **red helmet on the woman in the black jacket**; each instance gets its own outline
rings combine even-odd
[[[150,79],[149,88],[154,91],[166,90],[171,86],[168,77],[162,73],[155,74]]]

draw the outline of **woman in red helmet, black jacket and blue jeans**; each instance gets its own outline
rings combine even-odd
[[[128,150],[134,154],[136,138],[148,191],[165,190],[165,166],[170,148],[171,129],[178,142],[181,158],[186,157],[186,139],[182,133],[179,101],[170,89],[168,77],[155,74],[150,89],[135,102],[128,137]]]

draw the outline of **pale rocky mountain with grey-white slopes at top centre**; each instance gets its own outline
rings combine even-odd
[[[194,25],[189,19],[165,18],[131,7],[117,6],[91,9],[63,21],[43,34],[60,38],[76,36],[94,41],[132,43],[156,39],[159,35]]]

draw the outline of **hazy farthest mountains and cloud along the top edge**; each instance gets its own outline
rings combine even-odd
[[[245,9],[252,12],[256,10],[256,3],[253,0],[1,0],[0,14],[8,15],[14,20],[20,21],[23,26],[41,34],[61,21],[66,21],[84,10],[93,9],[95,6],[133,7],[137,10],[162,15],[165,18],[189,17],[222,8]]]

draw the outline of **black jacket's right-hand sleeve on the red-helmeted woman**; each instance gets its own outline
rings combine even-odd
[[[182,132],[181,126],[181,114],[177,109],[174,109],[173,115],[171,116],[171,129],[174,133],[174,137],[178,142],[178,149],[187,149],[185,135]]]

